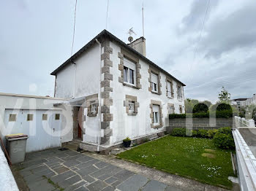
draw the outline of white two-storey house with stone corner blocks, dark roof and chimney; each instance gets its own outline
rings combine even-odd
[[[154,136],[165,131],[169,113],[184,113],[184,83],[146,58],[145,43],[126,44],[104,30],[51,73],[54,95],[73,107],[80,147]]]

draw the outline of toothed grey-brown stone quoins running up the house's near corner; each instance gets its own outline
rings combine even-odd
[[[103,121],[101,122],[101,129],[103,135],[101,136],[100,144],[109,144],[110,136],[112,136],[112,129],[110,129],[110,121],[113,121],[113,114],[110,113],[110,106],[113,106],[113,98],[110,93],[113,92],[113,87],[110,87],[110,81],[113,81],[113,74],[110,73],[110,67],[113,67],[113,62],[110,61],[110,54],[113,54],[113,49],[110,47],[110,41],[105,39],[102,42],[103,53],[101,60],[103,62],[101,81],[101,98],[103,104],[101,106],[101,113],[103,114]]]

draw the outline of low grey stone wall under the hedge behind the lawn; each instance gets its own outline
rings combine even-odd
[[[170,133],[173,128],[214,129],[214,128],[235,128],[233,118],[177,118],[169,120],[167,132]]]

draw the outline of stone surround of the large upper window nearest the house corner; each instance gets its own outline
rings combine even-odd
[[[140,84],[140,79],[141,79],[141,74],[140,74],[140,63],[139,59],[133,55],[132,53],[128,53],[126,50],[121,49],[121,52],[118,52],[118,58],[120,58],[120,63],[118,64],[118,70],[121,71],[121,76],[118,77],[118,82],[122,83],[123,85],[127,85],[129,87],[134,87],[136,89],[141,89],[141,84]],[[129,59],[133,63],[136,64],[136,85],[128,85],[124,83],[124,58]]]

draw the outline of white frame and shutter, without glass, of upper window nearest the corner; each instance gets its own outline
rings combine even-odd
[[[127,85],[136,85],[136,63],[129,61],[127,58],[124,58],[124,71],[127,73],[127,79],[124,76],[124,83]],[[133,72],[133,84],[130,83],[130,73]],[[126,82],[127,81],[127,82]]]

